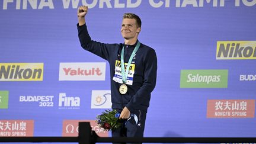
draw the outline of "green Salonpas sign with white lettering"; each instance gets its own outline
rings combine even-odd
[[[181,88],[227,88],[228,70],[181,70]]]

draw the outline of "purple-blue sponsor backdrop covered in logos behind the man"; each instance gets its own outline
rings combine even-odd
[[[111,108],[108,63],[81,48],[76,9],[92,39],[122,43],[121,18],[158,56],[145,136],[255,137],[256,0],[0,1],[0,136],[76,136]],[[112,80],[111,80],[112,81]]]

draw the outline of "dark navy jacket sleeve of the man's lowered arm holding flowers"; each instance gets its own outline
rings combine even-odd
[[[157,71],[157,58],[155,50],[151,49],[146,56],[145,68],[143,72],[143,84],[142,87],[133,95],[132,99],[126,105],[126,107],[132,113],[137,105],[146,104],[149,105],[151,98],[151,92],[156,85],[156,71]]]

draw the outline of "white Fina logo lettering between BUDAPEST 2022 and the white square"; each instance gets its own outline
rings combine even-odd
[[[66,97],[66,93],[59,94],[59,109],[79,109],[79,97]]]

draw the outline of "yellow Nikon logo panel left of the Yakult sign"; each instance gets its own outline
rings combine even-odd
[[[0,63],[0,81],[43,81],[43,63]]]

